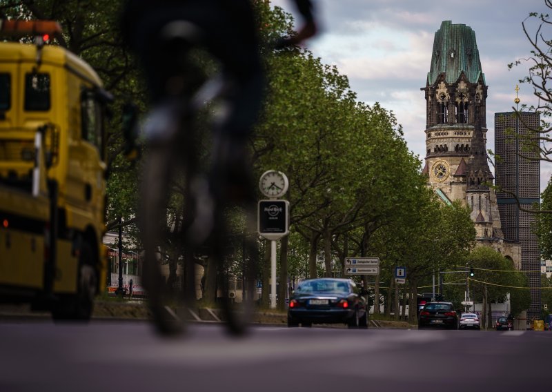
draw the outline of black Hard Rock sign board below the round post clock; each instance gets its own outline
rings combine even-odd
[[[287,200],[260,200],[259,235],[273,240],[288,235],[288,211]]]

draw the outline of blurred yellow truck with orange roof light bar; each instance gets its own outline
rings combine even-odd
[[[106,105],[49,21],[0,21],[0,302],[88,320],[106,287]]]

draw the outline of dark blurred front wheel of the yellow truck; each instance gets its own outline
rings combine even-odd
[[[59,304],[55,305],[52,310],[54,320],[90,320],[97,286],[98,276],[96,268],[94,268],[92,248],[90,244],[84,243],[79,255],[77,293],[63,295],[60,298]]]

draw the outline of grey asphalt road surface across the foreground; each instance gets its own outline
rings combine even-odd
[[[0,391],[531,391],[549,386],[552,333],[287,329],[242,339],[193,324],[0,324]]]

